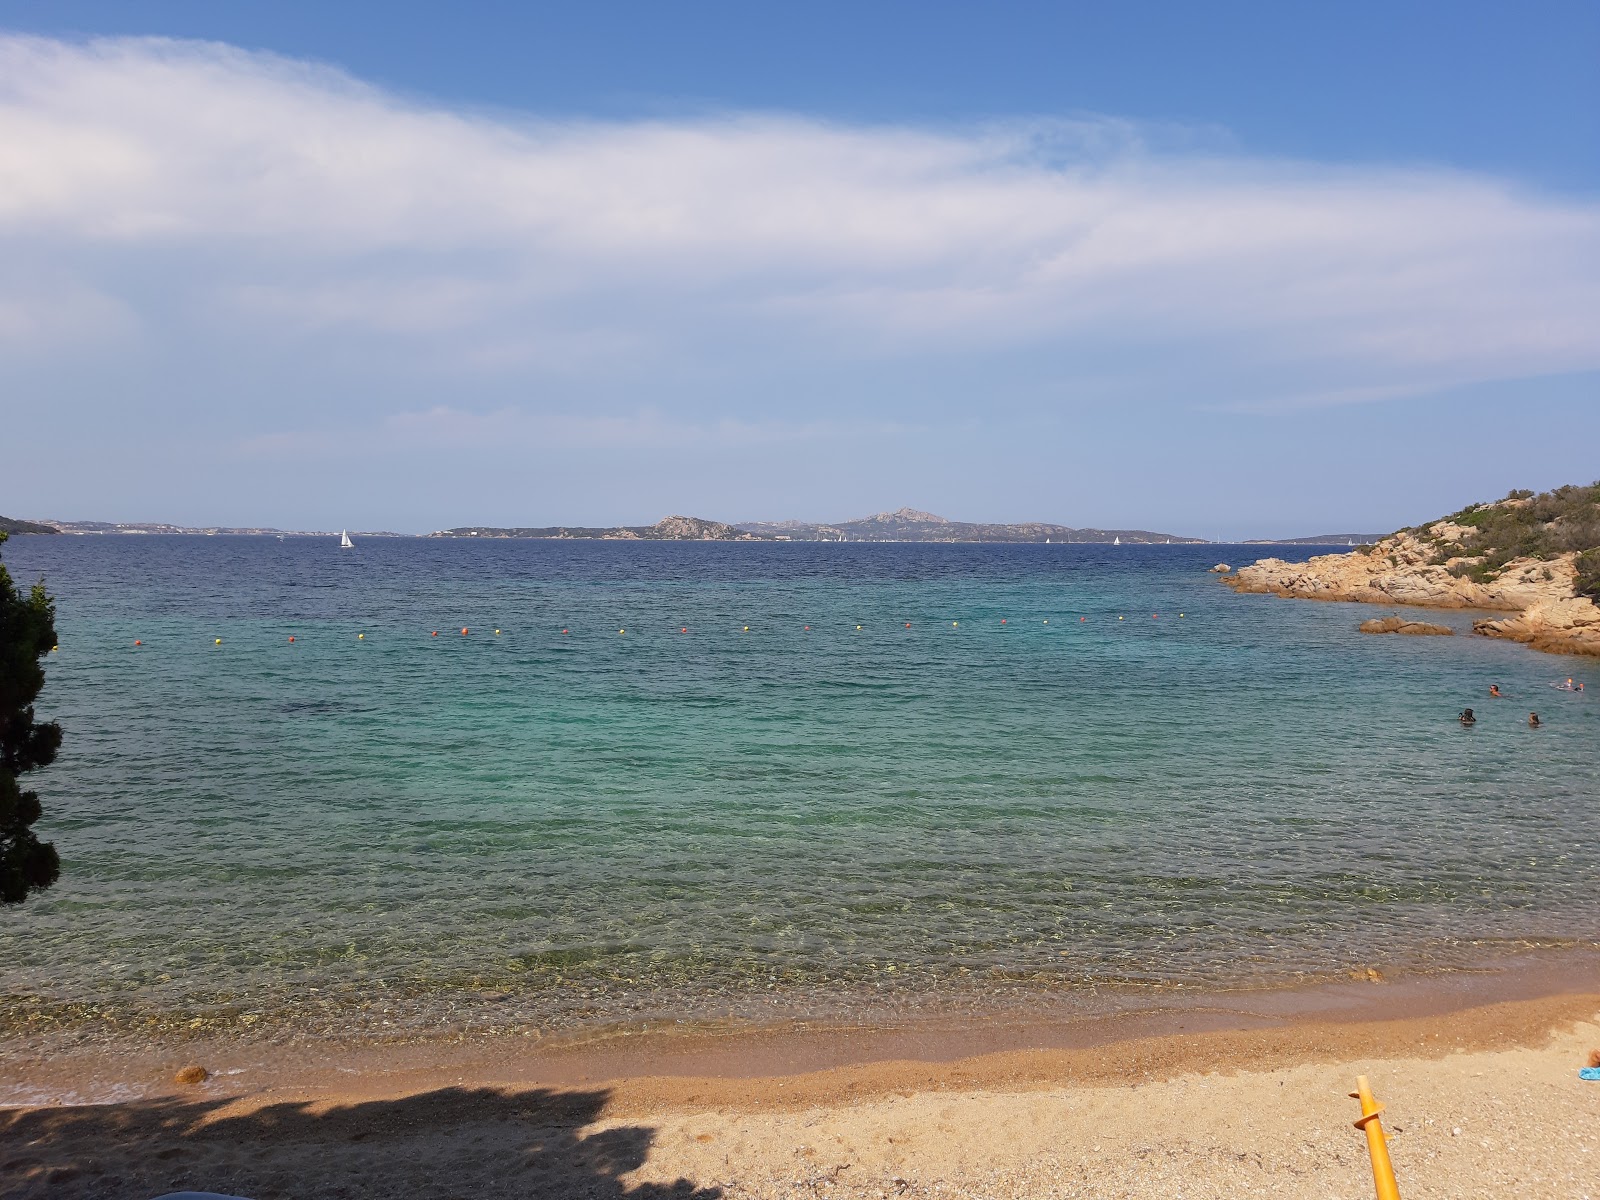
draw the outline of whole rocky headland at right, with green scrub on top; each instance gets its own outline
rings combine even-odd
[[[1499,611],[1472,630],[1600,656],[1600,485],[1514,491],[1349,554],[1261,558],[1222,582],[1301,600]]]

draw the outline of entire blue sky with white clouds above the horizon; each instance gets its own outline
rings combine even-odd
[[[0,0],[0,512],[1386,531],[1600,477],[1594,3]]]

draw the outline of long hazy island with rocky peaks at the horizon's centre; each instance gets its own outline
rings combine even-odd
[[[1026,522],[1021,525],[987,525],[952,522],[931,512],[899,509],[846,522],[723,522],[702,517],[666,517],[654,525],[579,526],[550,525],[539,528],[466,525],[440,530],[432,538],[586,538],[600,541],[718,541],[718,542],[1138,542],[1203,546],[1205,538],[1182,538],[1176,533],[1150,530],[1085,530],[1070,525]]]

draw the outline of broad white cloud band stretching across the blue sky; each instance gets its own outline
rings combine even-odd
[[[1045,354],[1251,408],[1600,368],[1600,206],[1491,178],[1112,120],[517,120],[160,40],[0,38],[6,246],[0,342],[70,298],[78,355],[142,314],[440,374],[656,373],[669,405],[710,358]]]

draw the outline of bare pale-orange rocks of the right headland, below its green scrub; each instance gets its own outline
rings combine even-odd
[[[1578,594],[1576,552],[1512,558],[1493,579],[1478,581],[1462,573],[1477,555],[1450,554],[1470,533],[1469,526],[1443,520],[1304,563],[1261,558],[1222,574],[1222,582],[1237,592],[1299,600],[1502,611],[1507,616],[1475,621],[1472,630],[1525,642],[1534,650],[1600,656],[1600,606]]]

